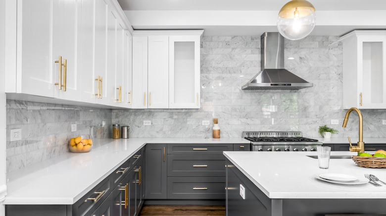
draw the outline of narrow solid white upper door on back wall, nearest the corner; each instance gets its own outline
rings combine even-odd
[[[132,94],[132,108],[147,108],[147,36],[133,36]]]

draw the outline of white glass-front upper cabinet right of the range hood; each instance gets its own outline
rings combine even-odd
[[[386,108],[386,31],[353,31],[343,42],[343,108]]]

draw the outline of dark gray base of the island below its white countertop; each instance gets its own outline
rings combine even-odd
[[[227,159],[227,216],[386,215],[386,199],[271,199]],[[240,187],[244,187],[241,197]],[[291,187],[289,184],[288,187]]]

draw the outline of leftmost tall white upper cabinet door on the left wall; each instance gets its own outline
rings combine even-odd
[[[17,69],[16,80],[7,80],[14,85],[10,92],[53,97],[52,9],[51,0],[17,1]]]

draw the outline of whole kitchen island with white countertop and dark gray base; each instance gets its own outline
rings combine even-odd
[[[318,160],[307,156],[317,152],[226,151],[224,155],[228,216],[386,214],[386,185],[342,185],[316,179],[322,173],[340,173],[358,179],[363,179],[364,174],[374,174],[386,180],[385,169],[358,167],[351,159],[331,159],[329,169],[320,169]]]

